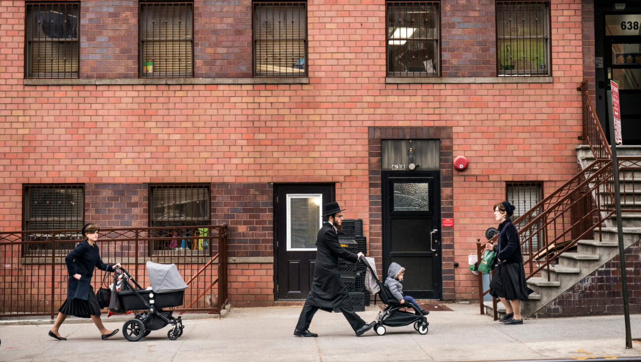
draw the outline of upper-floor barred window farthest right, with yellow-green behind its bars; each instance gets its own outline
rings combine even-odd
[[[497,1],[499,76],[550,75],[550,2]]]

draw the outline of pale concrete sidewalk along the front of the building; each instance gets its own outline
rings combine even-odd
[[[454,311],[428,315],[429,333],[411,325],[369,331],[356,337],[345,318],[319,311],[312,324],[318,338],[294,337],[301,307],[232,308],[222,319],[185,320],[185,332],[167,339],[169,326],[137,342],[118,333],[103,341],[93,324],[63,324],[56,341],[51,324],[0,325],[1,361],[495,361],[501,359],[641,358],[641,344],[626,350],[622,316],[526,320],[502,325],[479,315],[478,306],[449,304]],[[358,313],[365,321],[379,309]],[[107,328],[122,320],[103,318]],[[631,318],[641,337],[641,315]]]

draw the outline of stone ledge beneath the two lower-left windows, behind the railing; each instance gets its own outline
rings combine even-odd
[[[138,258],[138,264],[147,263],[147,261],[160,262],[163,264],[204,264],[210,261],[209,256],[174,256],[174,257],[165,257],[165,256],[152,256],[151,258],[140,257]],[[135,258],[119,258],[118,261],[112,258],[104,258],[103,263],[105,264],[115,264],[116,262],[121,263],[122,265],[134,264],[136,262]],[[22,264],[51,264],[51,255],[49,256],[33,256],[33,257],[22,257]],[[64,264],[64,256],[56,256],[54,259],[55,264]],[[218,263],[218,259],[213,261],[214,264]],[[267,263],[273,264],[274,257],[272,256],[246,256],[246,257],[235,257],[227,258],[227,263],[229,264],[245,264],[245,263]]]

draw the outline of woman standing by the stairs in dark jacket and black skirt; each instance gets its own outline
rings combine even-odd
[[[506,314],[499,319],[503,324],[523,324],[520,301],[528,300],[528,295],[533,292],[525,281],[519,234],[510,220],[514,209],[507,201],[494,204],[494,218],[499,222],[499,242],[496,247],[491,243],[485,244],[485,249],[496,251],[498,265],[490,283],[490,295],[500,299],[505,306]]]

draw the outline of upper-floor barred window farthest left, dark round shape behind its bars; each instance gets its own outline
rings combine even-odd
[[[78,78],[79,3],[27,3],[26,78]]]

